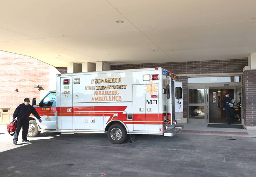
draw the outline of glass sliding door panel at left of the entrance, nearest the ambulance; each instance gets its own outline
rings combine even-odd
[[[209,87],[188,87],[188,123],[209,123]]]

